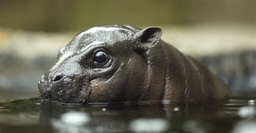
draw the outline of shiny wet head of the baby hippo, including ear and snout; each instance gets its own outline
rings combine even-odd
[[[146,53],[160,36],[158,27],[125,25],[77,34],[39,81],[40,98],[66,104],[138,101],[147,84]]]

